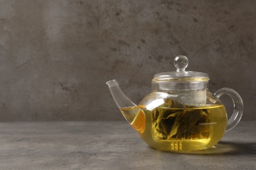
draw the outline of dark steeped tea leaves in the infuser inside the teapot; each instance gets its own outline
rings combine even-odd
[[[205,139],[209,137],[208,109],[196,109],[194,106],[186,106],[173,101],[167,102],[168,105],[179,105],[176,107],[179,109],[167,108],[164,104],[153,110],[153,124],[158,133],[156,135],[160,139]]]

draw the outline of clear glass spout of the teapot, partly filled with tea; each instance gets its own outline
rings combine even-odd
[[[112,97],[127,122],[139,133],[143,133],[146,119],[142,109],[135,105],[135,103],[121,91],[116,80],[110,80],[106,82],[106,84],[108,84]]]

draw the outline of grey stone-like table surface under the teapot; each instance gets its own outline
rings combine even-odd
[[[127,122],[1,122],[0,169],[256,169],[255,123],[175,154],[150,148]]]

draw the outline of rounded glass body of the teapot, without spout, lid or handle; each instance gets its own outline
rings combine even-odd
[[[197,96],[201,103],[194,104],[181,102],[186,98],[182,90],[153,90],[139,104],[145,115],[140,137],[152,148],[172,152],[191,152],[217,144],[226,131],[226,110],[215,95],[205,90],[203,103],[204,97]],[[192,97],[193,90],[186,95]]]

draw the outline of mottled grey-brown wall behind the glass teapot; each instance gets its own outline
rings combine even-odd
[[[0,1],[0,120],[123,120],[105,82],[139,101],[155,73],[208,73],[256,120],[256,1]]]

